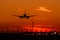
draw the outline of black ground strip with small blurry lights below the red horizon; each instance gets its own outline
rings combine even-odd
[[[60,35],[52,33],[0,33],[0,40],[60,40]]]

